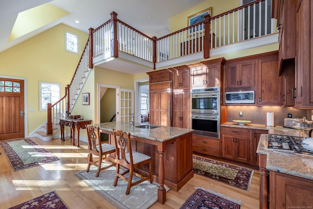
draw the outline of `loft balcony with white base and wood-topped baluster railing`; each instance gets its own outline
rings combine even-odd
[[[270,3],[255,0],[215,17],[207,15],[200,23],[160,38],[148,37],[112,12],[109,21],[89,29],[89,68],[136,74],[277,43]]]

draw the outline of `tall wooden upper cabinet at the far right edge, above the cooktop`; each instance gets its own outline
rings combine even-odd
[[[296,1],[296,109],[313,109],[313,2]]]

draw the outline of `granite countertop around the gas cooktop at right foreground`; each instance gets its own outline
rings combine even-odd
[[[268,170],[313,180],[313,156],[267,149],[267,139],[267,134],[261,135],[256,152],[267,155],[266,168]]]

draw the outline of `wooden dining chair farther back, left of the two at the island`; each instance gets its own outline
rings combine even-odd
[[[115,152],[115,146],[108,143],[101,143],[99,127],[87,126],[88,135],[88,166],[86,172],[89,172],[90,165],[98,167],[96,177],[99,176],[101,170],[114,166],[116,163],[107,161],[107,155]],[[94,161],[93,155],[99,157],[99,160]],[[101,167],[102,162],[109,165]]]

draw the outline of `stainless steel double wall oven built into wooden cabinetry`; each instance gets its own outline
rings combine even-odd
[[[195,135],[220,138],[220,88],[191,91],[191,128]]]

